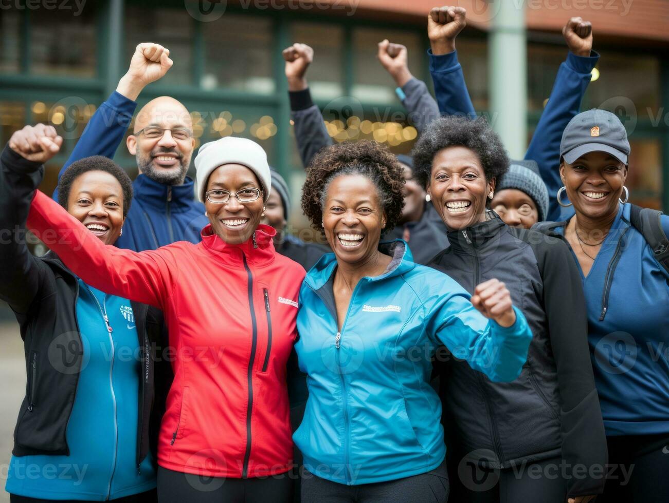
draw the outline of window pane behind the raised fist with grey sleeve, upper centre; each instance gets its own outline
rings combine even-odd
[[[422,75],[420,38],[409,31],[377,28],[356,28],[353,31],[353,96],[363,102],[394,102],[395,81],[379,63],[378,44],[383,39],[406,45],[409,53],[409,70]]]

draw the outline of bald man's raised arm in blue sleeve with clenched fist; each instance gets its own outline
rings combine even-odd
[[[118,81],[116,91],[88,121],[84,134],[58,173],[58,180],[76,160],[89,156],[114,157],[132,122],[132,114],[137,106],[135,100],[140,92],[147,84],[163,77],[171,66],[169,49],[162,45],[145,42],[135,47],[128,71]],[[54,200],[58,200],[58,189],[54,191]]]

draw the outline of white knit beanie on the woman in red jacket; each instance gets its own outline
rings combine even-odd
[[[272,176],[266,152],[253,140],[226,136],[220,140],[205,143],[195,157],[197,196],[202,202],[205,202],[209,175],[223,164],[242,164],[252,170],[262,185],[263,200],[266,201],[270,196]]]

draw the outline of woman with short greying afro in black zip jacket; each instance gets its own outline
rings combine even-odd
[[[450,248],[429,265],[470,292],[500,279],[534,334],[511,383],[491,382],[458,355],[438,364],[454,500],[591,500],[603,489],[607,452],[585,298],[569,249],[557,238],[511,228],[489,210],[508,158],[484,119],[434,121],[413,160],[449,229]]]

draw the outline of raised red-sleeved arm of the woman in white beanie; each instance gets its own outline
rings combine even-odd
[[[165,311],[164,301],[179,276],[173,246],[137,253],[103,244],[82,222],[39,190],[30,207],[27,228],[88,285]]]

